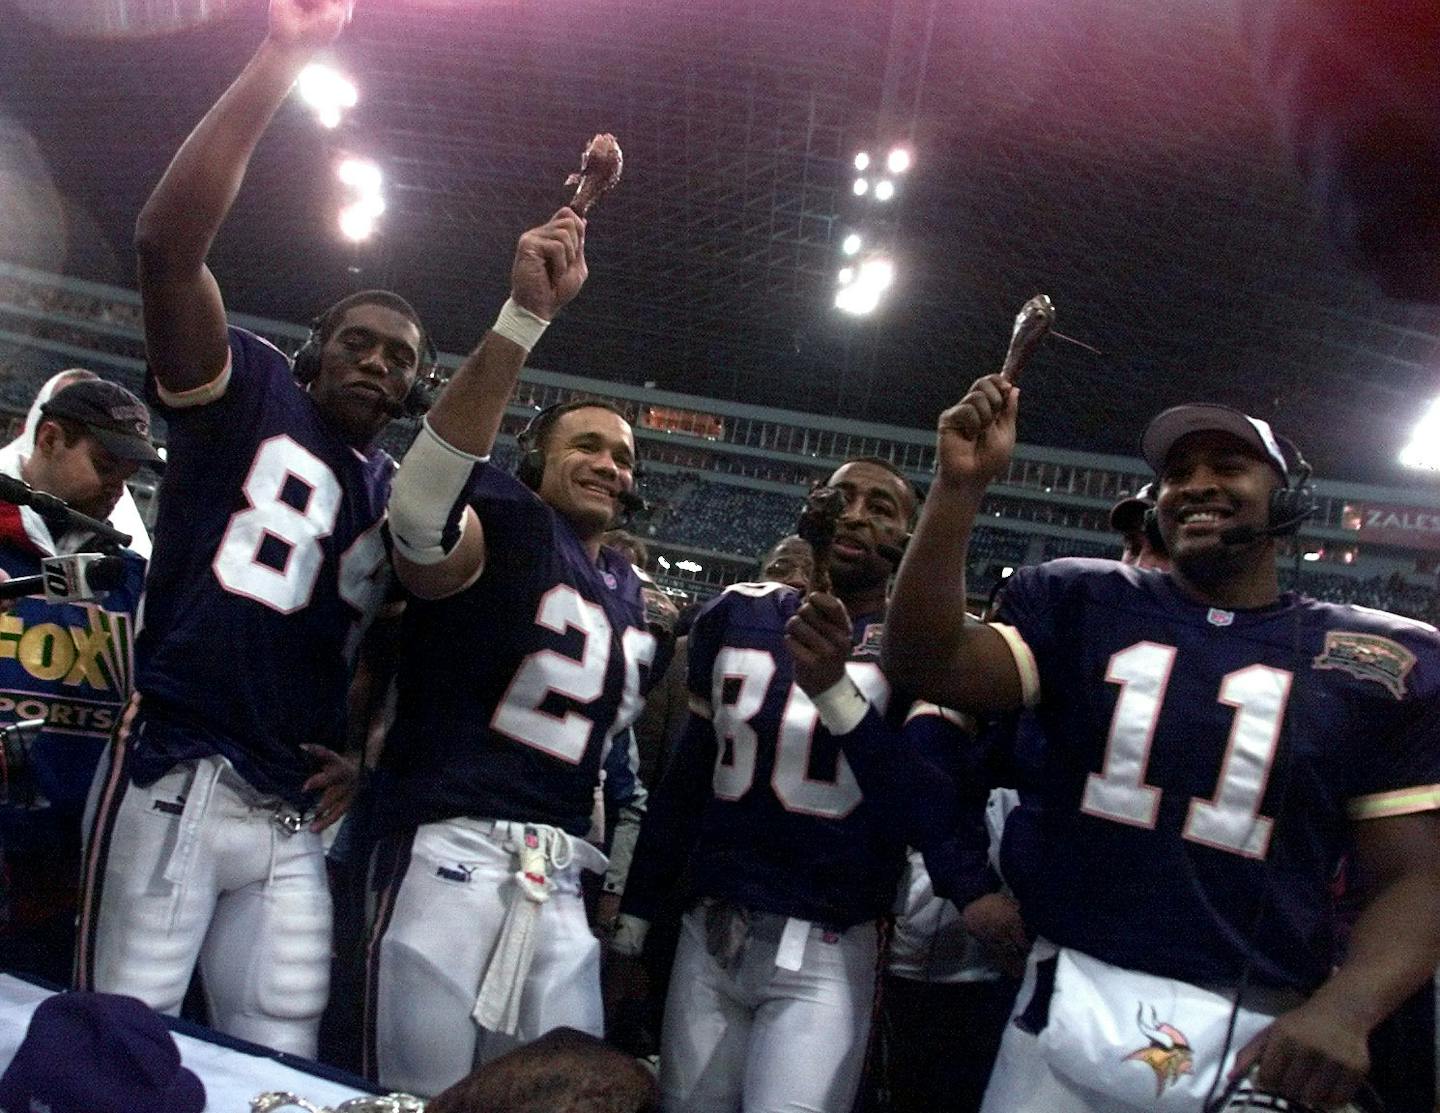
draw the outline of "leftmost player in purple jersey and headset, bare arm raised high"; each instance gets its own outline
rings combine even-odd
[[[351,295],[289,360],[226,327],[206,253],[340,0],[272,0],[249,66],[137,225],[150,390],[170,428],[137,693],[92,793],[76,979],[174,1012],[199,960],[222,1031],[312,1055],[330,970],[320,831],[348,802],[346,685],[387,576],[393,462],[369,445],[426,351]],[[304,380],[304,384],[297,380]]]

